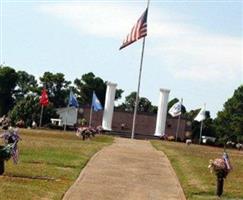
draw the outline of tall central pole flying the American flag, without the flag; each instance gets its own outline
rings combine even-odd
[[[148,3],[147,3],[147,10],[149,9],[149,3],[150,3],[150,0],[148,0]],[[142,69],[143,69],[144,47],[145,47],[145,37],[143,38],[143,46],[142,46],[142,52],[141,52],[141,60],[140,60],[140,68],[139,68],[139,76],[138,76],[138,88],[137,88],[135,108],[134,108],[134,114],[133,114],[131,139],[134,139],[135,126],[136,126],[136,117],[137,117],[137,110],[138,110],[138,103],[139,103],[139,91],[140,91],[141,75],[142,75]]]

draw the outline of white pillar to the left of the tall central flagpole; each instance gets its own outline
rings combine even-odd
[[[107,83],[106,95],[105,95],[105,108],[104,108],[103,120],[102,120],[102,128],[104,130],[111,131],[116,86],[117,84],[115,83],[110,83],[110,82]]]

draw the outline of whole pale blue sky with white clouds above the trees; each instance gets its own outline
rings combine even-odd
[[[0,0],[0,63],[67,80],[93,72],[137,90],[142,40],[119,51],[147,1]],[[243,84],[243,1],[150,1],[140,96],[183,98],[214,118]]]

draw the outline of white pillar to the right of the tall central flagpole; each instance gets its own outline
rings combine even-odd
[[[160,89],[159,105],[157,112],[156,129],[154,136],[161,137],[165,134],[165,123],[167,116],[167,104],[170,90]]]

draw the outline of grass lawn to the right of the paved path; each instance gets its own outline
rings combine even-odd
[[[187,146],[184,143],[151,141],[152,145],[163,151],[171,162],[186,198],[189,200],[213,200],[215,197],[216,178],[211,174],[209,160],[221,157],[223,149],[199,145]],[[243,152],[227,150],[233,171],[224,184],[221,199],[243,199]]]

